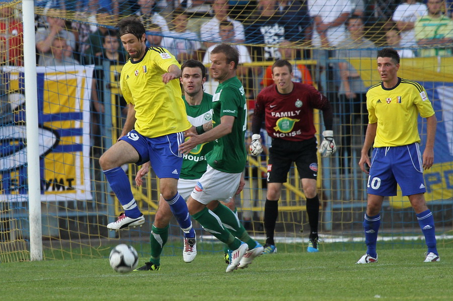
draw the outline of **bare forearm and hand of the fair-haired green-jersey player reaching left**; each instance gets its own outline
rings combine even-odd
[[[220,118],[220,124],[208,132],[201,135],[187,133],[186,137],[190,137],[190,139],[179,146],[179,151],[188,154],[198,144],[214,141],[215,139],[230,134],[235,119],[236,117],[234,116],[224,115]]]

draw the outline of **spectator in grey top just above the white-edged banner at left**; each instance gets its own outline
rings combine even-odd
[[[50,51],[46,56],[41,56],[38,62],[39,66],[74,66],[80,65],[78,60],[72,56],[72,48],[61,37],[56,37],[52,41]]]

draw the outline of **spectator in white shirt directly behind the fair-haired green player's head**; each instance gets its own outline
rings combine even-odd
[[[225,44],[231,44],[234,43],[235,41],[235,31],[234,31],[234,26],[232,22],[229,21],[222,21],[219,23],[219,35],[222,43]],[[219,43],[220,44],[220,43]],[[204,58],[202,63],[203,64],[209,64],[210,63],[210,54],[212,49],[214,49],[217,45],[219,44],[214,44],[211,45],[205,52]],[[244,63],[251,63],[252,58],[250,57],[249,50],[247,49],[246,46],[236,44],[232,45],[234,48],[236,48],[239,52],[239,62],[238,62],[238,68],[236,74],[239,77],[246,77],[249,72],[249,67],[243,66],[242,64]],[[243,80],[244,81],[244,80]],[[209,77],[209,80],[206,81],[205,83],[205,89],[207,92],[214,94],[215,90],[217,89],[218,86],[218,81],[214,80],[212,76]],[[248,91],[250,92],[250,91]]]

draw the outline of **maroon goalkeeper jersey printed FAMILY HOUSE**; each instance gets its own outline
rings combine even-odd
[[[265,117],[269,137],[302,141],[315,137],[313,109],[330,111],[330,103],[312,85],[294,82],[290,93],[281,94],[272,84],[258,94],[254,118]]]

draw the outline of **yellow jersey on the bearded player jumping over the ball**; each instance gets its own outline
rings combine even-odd
[[[121,70],[120,86],[124,99],[134,105],[135,130],[154,138],[183,132],[191,127],[181,97],[179,78],[165,84],[162,74],[170,65],[181,67],[162,47],[149,47],[139,61],[130,59]]]

